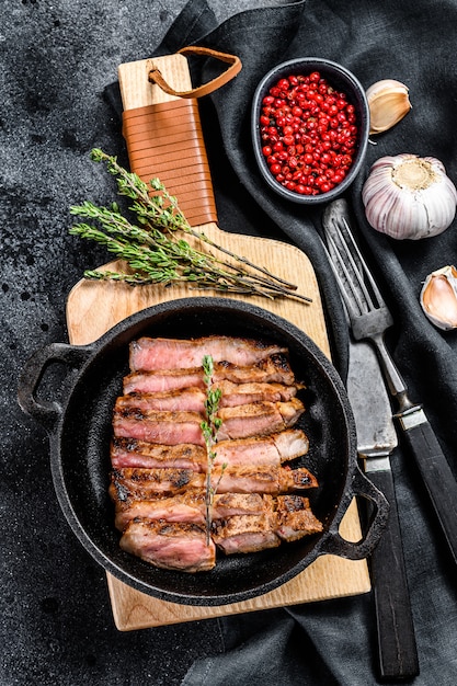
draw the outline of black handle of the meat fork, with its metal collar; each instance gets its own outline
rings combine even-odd
[[[420,405],[397,415],[457,563],[457,481]]]

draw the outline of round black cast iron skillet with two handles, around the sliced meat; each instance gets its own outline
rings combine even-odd
[[[300,419],[310,450],[300,458],[319,479],[307,492],[322,534],[244,556],[220,557],[210,572],[186,574],[156,569],[121,550],[107,495],[111,414],[128,373],[128,343],[140,335],[195,338],[212,333],[266,339],[290,351],[296,377],[307,385]],[[62,400],[38,399],[50,364],[67,370]],[[43,388],[42,388],[43,390]],[[221,298],[186,298],[142,310],[93,344],[50,344],[26,364],[19,390],[22,409],[46,427],[55,490],[75,534],[92,557],[126,584],[161,599],[187,605],[221,605],[279,586],[320,554],[352,560],[367,557],[385,526],[388,504],[356,464],[355,425],[344,386],[333,366],[299,329],[250,304]],[[375,504],[368,531],[358,542],[338,528],[354,494]]]

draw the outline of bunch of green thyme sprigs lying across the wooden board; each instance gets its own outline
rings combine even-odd
[[[118,164],[116,157],[100,149],[93,149],[91,157],[96,162],[106,163],[107,171],[116,178],[118,195],[133,201],[128,207],[132,220],[122,214],[117,203],[100,207],[85,201],[70,207],[71,215],[83,219],[70,228],[70,233],[104,245],[127,262],[130,271],[87,270],[85,278],[122,281],[134,286],[187,283],[202,289],[311,301],[297,294],[295,285],[193,229],[176,198],[168,193],[159,179],[151,179],[147,184]],[[197,239],[201,248],[191,245],[183,238],[186,235]],[[209,249],[204,250],[205,245],[231,261],[216,256]]]

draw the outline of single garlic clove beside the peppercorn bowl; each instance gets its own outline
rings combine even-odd
[[[411,110],[409,90],[395,79],[373,83],[366,91],[369,133],[381,134],[398,124]]]

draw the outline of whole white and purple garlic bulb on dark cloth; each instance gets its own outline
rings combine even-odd
[[[374,229],[419,240],[447,229],[456,214],[457,191],[439,160],[404,153],[373,164],[362,199]]]

